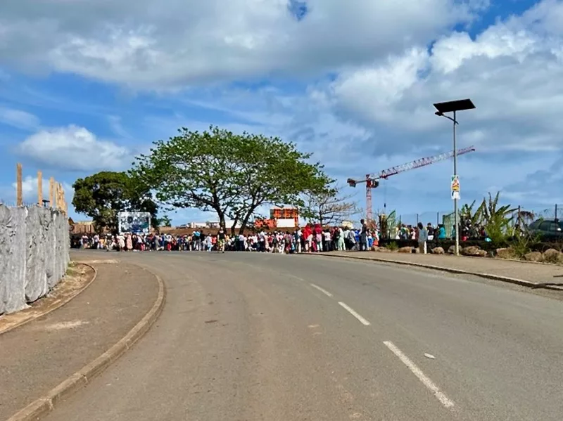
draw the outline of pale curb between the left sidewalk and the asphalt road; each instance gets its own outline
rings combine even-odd
[[[148,270],[144,268],[144,270]],[[122,337],[116,344],[111,346],[91,363],[85,365],[77,373],[71,375],[66,380],[51,389],[45,396],[33,401],[28,406],[18,411],[6,421],[35,421],[50,413],[58,402],[75,393],[86,386],[94,377],[106,370],[112,363],[118,360],[122,354],[131,348],[135,342],[143,337],[151,325],[162,313],[166,301],[166,288],[160,276],[153,273],[158,281],[158,297],[148,313],[134,326],[127,335]]]

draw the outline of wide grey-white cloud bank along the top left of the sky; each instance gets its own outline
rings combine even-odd
[[[318,72],[424,45],[483,0],[6,0],[0,64],[136,88]],[[36,34],[41,34],[37,36]]]

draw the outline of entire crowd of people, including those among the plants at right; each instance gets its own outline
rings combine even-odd
[[[472,227],[461,221],[460,240],[486,238],[482,227]],[[426,253],[427,242],[455,238],[455,228],[450,235],[445,226],[422,223],[416,226],[400,224],[388,236],[396,240],[417,240],[421,253]],[[229,234],[224,228],[216,233],[194,231],[185,235],[171,233],[122,233],[118,235],[83,235],[75,238],[72,247],[118,251],[205,251],[205,252],[267,252],[267,253],[314,253],[345,250],[369,250],[379,245],[380,233],[360,221],[360,228],[345,226],[322,228],[308,224],[292,231],[265,231],[248,234]]]

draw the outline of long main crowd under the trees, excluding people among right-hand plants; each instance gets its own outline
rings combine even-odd
[[[119,251],[206,251],[206,252],[270,252],[303,253],[333,250],[369,250],[377,245],[379,235],[369,230],[362,219],[360,229],[346,227],[321,228],[308,224],[292,231],[265,230],[229,235],[220,228],[217,233],[194,231],[186,235],[170,233],[122,233],[119,235],[83,235],[73,247]]]

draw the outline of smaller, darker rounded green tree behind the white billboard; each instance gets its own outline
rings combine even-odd
[[[119,212],[148,212],[157,226],[158,205],[148,186],[125,172],[102,171],[77,179],[72,188],[76,212],[90,216],[97,231],[117,231]]]

